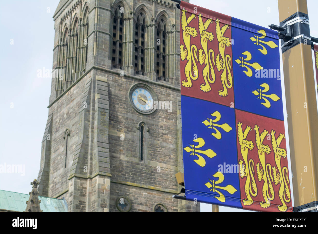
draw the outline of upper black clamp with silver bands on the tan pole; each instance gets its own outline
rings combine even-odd
[[[270,29],[279,31],[278,37],[282,39],[282,53],[300,43],[311,45],[312,39],[309,31],[308,15],[296,12],[278,25],[269,25]]]

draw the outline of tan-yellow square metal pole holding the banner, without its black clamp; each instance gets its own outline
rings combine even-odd
[[[296,12],[308,14],[306,0],[278,0],[278,7],[280,22]],[[303,41],[282,54],[294,206],[300,209],[318,204],[316,85],[311,44]]]

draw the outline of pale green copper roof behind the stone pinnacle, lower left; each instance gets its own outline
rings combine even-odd
[[[28,194],[0,190],[0,209],[23,212],[26,208]],[[66,202],[62,199],[39,196],[43,212],[67,212]]]

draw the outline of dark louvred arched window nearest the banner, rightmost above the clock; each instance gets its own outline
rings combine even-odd
[[[166,80],[166,22],[158,21],[156,29],[156,76],[158,80]]]

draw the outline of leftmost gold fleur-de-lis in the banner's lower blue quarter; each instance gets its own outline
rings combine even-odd
[[[194,144],[189,144],[191,147],[187,146],[184,147],[183,149],[186,152],[191,152],[191,155],[196,155],[198,157],[198,159],[193,160],[194,162],[196,162],[200,167],[204,167],[205,166],[205,160],[204,158],[200,155],[200,154],[205,154],[206,156],[208,156],[209,158],[213,158],[214,156],[216,156],[217,154],[211,150],[211,149],[207,149],[207,150],[198,150],[198,148],[201,148],[204,146],[205,142],[203,138],[197,138],[197,139],[193,139],[194,142],[197,142],[198,145],[194,145]]]

